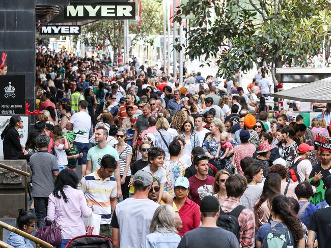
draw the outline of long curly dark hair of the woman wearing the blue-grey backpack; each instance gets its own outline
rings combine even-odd
[[[299,240],[304,237],[305,231],[302,229],[300,219],[293,210],[292,201],[284,196],[278,195],[272,199],[272,211],[280,216],[284,224],[291,231],[294,242],[297,245]]]

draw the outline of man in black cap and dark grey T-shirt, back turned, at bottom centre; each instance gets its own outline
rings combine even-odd
[[[216,226],[219,216],[219,202],[214,196],[205,196],[200,204],[201,227],[184,234],[177,248],[239,247],[236,236]]]

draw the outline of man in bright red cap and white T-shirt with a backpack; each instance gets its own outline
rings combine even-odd
[[[298,147],[298,156],[295,158],[293,163],[301,160],[296,167],[297,174],[300,177],[300,182],[308,180],[309,175],[313,169],[312,163],[307,159],[310,151],[312,150],[314,150],[314,146],[310,146],[306,143],[302,143]]]

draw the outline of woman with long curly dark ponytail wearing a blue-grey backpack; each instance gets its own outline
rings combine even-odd
[[[255,244],[257,248],[261,248],[266,241],[265,237],[271,227],[283,227],[288,229],[289,237],[287,247],[304,248],[305,247],[305,231],[301,226],[301,222],[293,211],[291,200],[283,195],[275,196],[272,199],[271,215],[273,221],[264,224],[258,230]]]

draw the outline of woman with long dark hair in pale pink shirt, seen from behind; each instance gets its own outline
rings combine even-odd
[[[91,215],[93,204],[87,204],[83,192],[77,190],[78,182],[72,170],[64,169],[48,197],[47,220],[55,220],[61,228],[62,242],[56,248],[65,248],[70,239],[86,234],[82,216]]]

